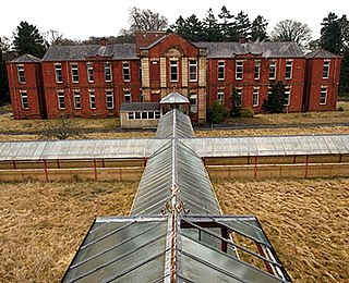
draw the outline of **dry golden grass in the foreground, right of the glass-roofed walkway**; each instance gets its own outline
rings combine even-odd
[[[294,282],[349,282],[349,179],[214,186],[224,213],[258,218]]]

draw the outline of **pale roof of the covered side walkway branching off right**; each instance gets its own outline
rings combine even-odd
[[[186,138],[201,157],[348,155],[349,135]]]

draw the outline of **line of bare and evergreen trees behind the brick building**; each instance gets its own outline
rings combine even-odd
[[[267,21],[257,15],[253,21],[243,11],[233,15],[226,7],[215,15],[208,9],[204,19],[195,14],[186,19],[181,15],[174,24],[168,25],[168,20],[148,9],[132,8],[129,14],[128,28],[122,28],[118,36],[107,37],[109,44],[134,42],[134,33],[139,30],[174,32],[190,41],[237,41],[244,37],[248,41],[294,41],[305,51],[323,48],[342,57],[339,93],[349,93],[349,21],[346,15],[339,17],[329,13],[321,23],[321,37],[311,40],[311,29],[306,24],[284,20],[275,25],[268,35]],[[0,103],[9,102],[9,86],[5,73],[5,61],[31,53],[43,58],[46,50],[55,45],[88,45],[98,44],[99,38],[89,37],[87,40],[64,38],[60,32],[40,33],[27,22],[21,22],[13,33],[13,40],[0,38]],[[12,47],[12,48],[11,48]],[[14,49],[15,52],[11,50]]]

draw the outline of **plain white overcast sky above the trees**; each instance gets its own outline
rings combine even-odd
[[[202,20],[209,8],[217,16],[222,5],[233,15],[245,12],[251,21],[258,14],[264,16],[269,24],[268,33],[282,20],[308,24],[313,39],[318,38],[321,23],[329,12],[349,16],[348,0],[16,0],[1,1],[0,37],[11,38],[21,21],[35,25],[40,33],[55,29],[70,39],[117,36],[120,28],[129,27],[132,7],[158,12],[173,24],[180,15],[185,19],[196,14]]]

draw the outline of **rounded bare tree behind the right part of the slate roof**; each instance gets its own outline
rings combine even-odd
[[[274,41],[293,41],[305,47],[312,38],[312,30],[308,24],[284,20],[276,24],[270,37]]]

